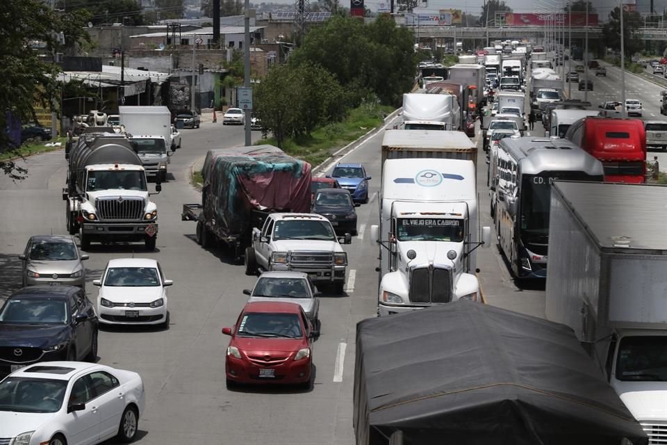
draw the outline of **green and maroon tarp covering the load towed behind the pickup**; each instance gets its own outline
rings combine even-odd
[[[311,165],[273,145],[208,150],[201,175],[204,217],[231,235],[247,232],[254,210],[311,209]]]

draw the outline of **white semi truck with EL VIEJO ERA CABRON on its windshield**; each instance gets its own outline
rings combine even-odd
[[[385,133],[380,222],[371,227],[381,316],[481,300],[474,250],[490,245],[490,229],[479,234],[475,145],[460,131],[423,131],[419,150],[406,132]]]

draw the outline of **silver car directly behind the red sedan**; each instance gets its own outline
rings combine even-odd
[[[304,309],[308,321],[320,330],[320,300],[318,289],[307,273],[303,272],[264,272],[257,279],[252,291],[243,293],[253,301],[293,302]]]

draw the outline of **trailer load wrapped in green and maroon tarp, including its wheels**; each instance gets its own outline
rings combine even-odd
[[[201,204],[183,204],[181,220],[197,222],[197,243],[224,243],[236,260],[269,213],[311,209],[311,165],[273,145],[208,150],[201,177]]]

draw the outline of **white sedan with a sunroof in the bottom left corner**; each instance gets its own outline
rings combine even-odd
[[[117,437],[132,442],[144,406],[138,373],[84,362],[36,363],[0,382],[0,441],[79,445]]]

